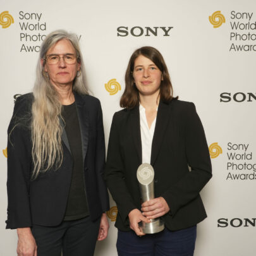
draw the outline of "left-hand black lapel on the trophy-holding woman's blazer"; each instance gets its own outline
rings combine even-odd
[[[140,112],[138,107],[131,109],[131,132],[140,163],[142,163],[142,139],[140,136]]]

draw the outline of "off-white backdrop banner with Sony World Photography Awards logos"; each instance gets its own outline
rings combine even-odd
[[[253,256],[256,251],[255,56],[256,2],[243,1],[1,1],[0,5],[0,255],[16,253],[16,231],[5,230],[6,130],[15,97],[32,90],[40,44],[56,29],[80,40],[87,84],[102,103],[106,146],[125,88],[131,53],[161,51],[174,94],[192,101],[205,128],[213,177],[202,190],[208,218],[198,224],[196,256]],[[197,147],[197,145],[195,145]],[[116,253],[116,204],[95,255]]]

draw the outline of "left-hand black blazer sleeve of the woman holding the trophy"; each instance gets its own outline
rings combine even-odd
[[[133,199],[128,191],[123,175],[124,166],[119,147],[119,132],[121,116],[113,116],[107,148],[106,181],[107,187],[118,207],[118,213],[123,222],[126,221],[131,210],[136,209]]]

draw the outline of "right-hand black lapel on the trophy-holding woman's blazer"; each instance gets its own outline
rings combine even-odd
[[[171,118],[171,102],[169,104],[165,104],[163,102],[159,102],[159,107],[157,110],[157,119],[155,123],[155,131],[152,141],[152,149],[151,149],[151,158],[150,164],[153,166],[155,160],[157,159],[157,154],[159,153],[162,140],[164,139],[164,134],[166,133],[166,128],[169,123],[169,119]]]

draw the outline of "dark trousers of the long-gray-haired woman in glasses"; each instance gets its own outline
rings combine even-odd
[[[92,256],[99,233],[101,218],[92,222],[90,217],[63,221],[59,226],[34,225],[32,234],[37,243],[37,256]]]

